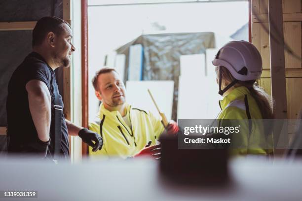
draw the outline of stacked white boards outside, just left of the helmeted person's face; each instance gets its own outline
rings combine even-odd
[[[214,67],[206,75],[205,54],[183,55],[180,63],[177,118],[214,119],[220,110],[219,97],[213,93],[218,92]]]

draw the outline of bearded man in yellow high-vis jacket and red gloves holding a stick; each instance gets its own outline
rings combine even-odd
[[[156,150],[155,140],[165,128],[151,112],[126,103],[125,86],[115,69],[101,68],[92,84],[102,104],[94,121],[89,123],[89,129],[100,134],[104,144],[100,151],[89,149],[89,155],[127,158],[156,153],[151,150]],[[173,121],[166,129],[168,134],[178,132]]]

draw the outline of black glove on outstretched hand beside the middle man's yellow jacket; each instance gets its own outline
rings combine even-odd
[[[92,151],[102,149],[103,139],[99,134],[89,131],[88,129],[82,129],[78,132],[78,136],[82,138],[83,142],[93,148]]]

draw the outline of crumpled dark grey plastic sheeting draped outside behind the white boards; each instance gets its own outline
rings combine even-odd
[[[202,54],[207,48],[215,48],[214,33],[141,35],[116,50],[117,54],[126,55],[125,77],[128,75],[129,48],[135,44],[142,44],[144,48],[143,80],[174,80],[172,119],[176,120],[180,56]]]

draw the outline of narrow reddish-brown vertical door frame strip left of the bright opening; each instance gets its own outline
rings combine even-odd
[[[88,9],[87,0],[81,1],[82,33],[82,127],[88,128]],[[88,146],[82,143],[82,157],[88,155]]]

